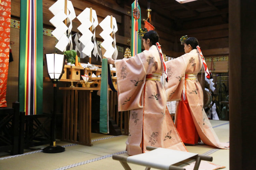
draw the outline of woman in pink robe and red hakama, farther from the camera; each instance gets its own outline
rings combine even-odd
[[[206,145],[227,149],[229,143],[219,141],[203,109],[203,91],[197,80],[202,57],[197,47],[200,50],[198,40],[190,37],[184,44],[186,54],[166,62],[167,101],[179,101],[175,125],[184,143],[196,145],[201,139]]]

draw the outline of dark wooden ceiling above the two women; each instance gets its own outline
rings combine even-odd
[[[126,5],[132,2],[133,0],[125,0]],[[147,2],[148,0],[139,0],[143,8],[147,8]],[[228,0],[197,0],[183,4],[175,0],[151,0],[150,8],[152,16],[157,13],[168,18],[173,23],[171,24],[173,30],[228,23]],[[154,19],[156,20],[157,17]]]

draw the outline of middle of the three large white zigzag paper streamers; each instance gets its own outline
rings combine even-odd
[[[98,18],[95,10],[92,10],[91,15],[92,15],[92,22],[90,21],[90,8],[85,8],[85,10],[77,16],[77,19],[81,22],[81,25],[77,29],[83,34],[79,38],[79,40],[84,47],[82,51],[81,51],[81,45],[76,49],[77,50],[79,49],[80,54],[82,52],[85,54],[85,56],[89,56],[89,57],[91,57],[91,51],[93,50],[93,55],[98,59],[98,56],[100,55],[97,55],[98,49],[97,49],[97,43],[95,40],[95,27],[98,26]],[[93,33],[89,30],[90,27],[92,27]],[[93,41],[91,40],[91,38],[93,38]],[[83,55],[83,57],[85,56]]]

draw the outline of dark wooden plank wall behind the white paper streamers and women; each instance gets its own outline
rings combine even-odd
[[[56,0],[43,0],[43,23],[45,28],[54,29],[49,20],[53,17],[53,14],[48,8],[55,3]],[[118,5],[115,0],[72,0],[76,16],[78,16],[86,7],[92,7],[96,10],[99,23],[107,16],[113,15],[116,18],[118,31],[116,33],[116,41],[118,46],[129,47],[127,40],[131,39],[131,6]],[[20,2],[19,0],[12,0],[11,15],[12,17],[20,17]],[[225,9],[226,10],[226,9]],[[223,11],[226,13],[226,11]],[[183,12],[186,15],[186,12]],[[209,12],[208,12],[209,13]],[[200,14],[207,15],[209,14]],[[214,12],[212,12],[214,13]],[[152,20],[156,31],[159,34],[159,43],[162,46],[162,51],[168,56],[177,57],[180,56],[177,52],[183,52],[183,47],[180,46],[180,37],[183,35],[194,36],[198,38],[200,46],[204,53],[207,55],[223,55],[228,54],[228,24],[219,24],[222,22],[214,22],[215,20],[223,20],[218,18],[199,19],[194,20],[182,20],[182,31],[174,31],[174,22],[163,15],[161,12],[152,11]],[[146,9],[141,6],[141,19],[146,19]],[[198,16],[200,17],[200,16]],[[75,18],[73,21],[73,32],[79,32],[77,27],[81,24],[80,21]],[[218,25],[214,25],[214,24]],[[176,24],[178,24],[176,22]],[[143,25],[143,22],[142,22]],[[205,27],[207,25],[213,25],[211,27]],[[143,27],[143,26],[142,26]],[[200,28],[199,28],[200,27]],[[192,29],[191,29],[192,28]],[[96,39],[102,41],[100,32],[102,31],[100,26],[96,27]],[[209,50],[210,51],[205,51]],[[204,54],[204,55],[206,55]],[[121,55],[118,56],[122,57]]]

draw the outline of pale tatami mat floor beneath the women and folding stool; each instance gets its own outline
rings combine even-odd
[[[210,120],[214,131],[221,142],[229,142],[229,122]],[[45,146],[36,147],[34,151],[26,150],[23,155],[16,157],[0,152],[0,170],[122,170],[122,165],[112,159],[113,154],[127,155],[125,152],[127,136],[110,136],[92,134],[92,147],[72,145],[72,143],[57,141],[57,145],[65,146],[62,153],[47,154],[41,152]],[[204,144],[187,146],[189,152],[213,157],[214,164],[226,166],[229,169],[229,150],[216,149]],[[128,155],[127,155],[128,156]],[[133,165],[132,170],[141,170],[145,167]]]

